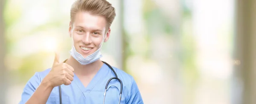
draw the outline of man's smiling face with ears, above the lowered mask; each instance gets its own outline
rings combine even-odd
[[[97,51],[104,37],[104,42],[108,41],[111,30],[106,26],[107,22],[102,16],[77,12],[69,27],[69,34],[73,37],[76,51],[84,58]]]

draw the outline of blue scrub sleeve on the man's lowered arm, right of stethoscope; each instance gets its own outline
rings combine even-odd
[[[140,94],[140,90],[134,79],[131,82],[131,87],[128,93],[128,100],[126,104],[144,104]]]

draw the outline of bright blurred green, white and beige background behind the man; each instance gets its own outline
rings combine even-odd
[[[134,76],[145,104],[256,104],[256,0],[108,0],[102,60]],[[0,104],[71,49],[74,0],[0,0]]]

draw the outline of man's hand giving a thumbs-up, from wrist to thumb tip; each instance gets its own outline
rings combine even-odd
[[[51,87],[56,87],[61,84],[69,85],[73,81],[73,72],[73,67],[63,62],[60,63],[59,56],[55,53],[52,69],[42,82],[48,83]]]

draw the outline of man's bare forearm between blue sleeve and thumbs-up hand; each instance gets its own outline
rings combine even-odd
[[[52,89],[49,83],[42,82],[26,104],[46,104]]]

